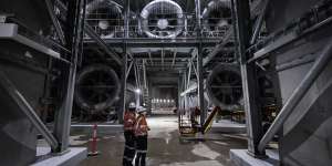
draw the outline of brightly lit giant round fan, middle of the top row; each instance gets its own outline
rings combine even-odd
[[[149,38],[172,39],[185,25],[183,9],[172,0],[155,0],[141,12],[142,30]]]

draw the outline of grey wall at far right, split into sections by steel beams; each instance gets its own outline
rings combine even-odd
[[[292,63],[321,54],[332,38],[331,27],[310,34],[300,41],[279,50],[277,65]],[[312,66],[312,62],[280,71],[280,92],[286,103],[294,89]],[[280,139],[280,155],[283,165],[330,166],[332,164],[332,61],[307,92],[300,104],[283,125]]]

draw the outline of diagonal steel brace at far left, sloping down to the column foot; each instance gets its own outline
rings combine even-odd
[[[24,96],[19,92],[19,90],[14,86],[14,84],[6,76],[6,74],[0,71],[0,84],[6,90],[6,92],[12,97],[15,104],[20,107],[20,111],[27,115],[29,121],[33,124],[37,131],[46,139],[50,146],[53,149],[58,148],[58,141],[51,134],[49,128],[43,124],[43,122],[37,115],[37,112],[32,108],[32,106],[28,103]]]

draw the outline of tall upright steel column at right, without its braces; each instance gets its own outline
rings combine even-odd
[[[248,134],[248,152],[256,157],[264,156],[264,151],[258,151],[258,144],[263,135],[261,125],[261,111],[258,105],[258,86],[256,79],[255,63],[246,63],[252,54],[247,54],[246,50],[250,45],[251,21],[249,0],[232,0],[235,9],[236,30],[237,30],[237,50],[240,58],[242,89],[245,98],[245,111]]]

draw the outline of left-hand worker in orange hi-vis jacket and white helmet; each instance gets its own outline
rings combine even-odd
[[[135,134],[134,125],[136,123],[136,105],[131,103],[124,115],[124,137],[125,149],[123,154],[123,166],[133,166],[135,156]]]

